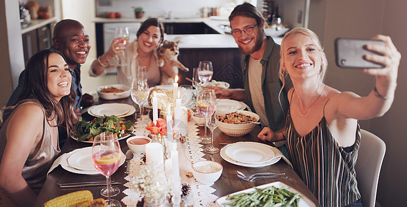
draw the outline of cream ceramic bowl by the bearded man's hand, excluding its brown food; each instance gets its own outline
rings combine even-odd
[[[256,121],[259,121],[259,115],[255,114],[254,112],[250,112],[247,110],[221,110],[218,112],[218,115],[225,115],[229,112],[240,112],[244,115],[249,115],[250,117],[255,117]],[[248,123],[248,124],[228,124],[222,121],[219,121],[219,130],[224,132],[226,135],[232,137],[240,137],[243,135],[248,134],[255,128],[256,124]]]

